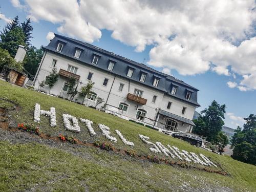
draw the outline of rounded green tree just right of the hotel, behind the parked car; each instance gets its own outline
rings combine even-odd
[[[201,112],[203,115],[199,115],[194,121],[196,126],[193,133],[207,137],[209,142],[217,141],[218,133],[224,125],[225,109],[225,104],[220,105],[217,101],[212,101],[208,108]]]

